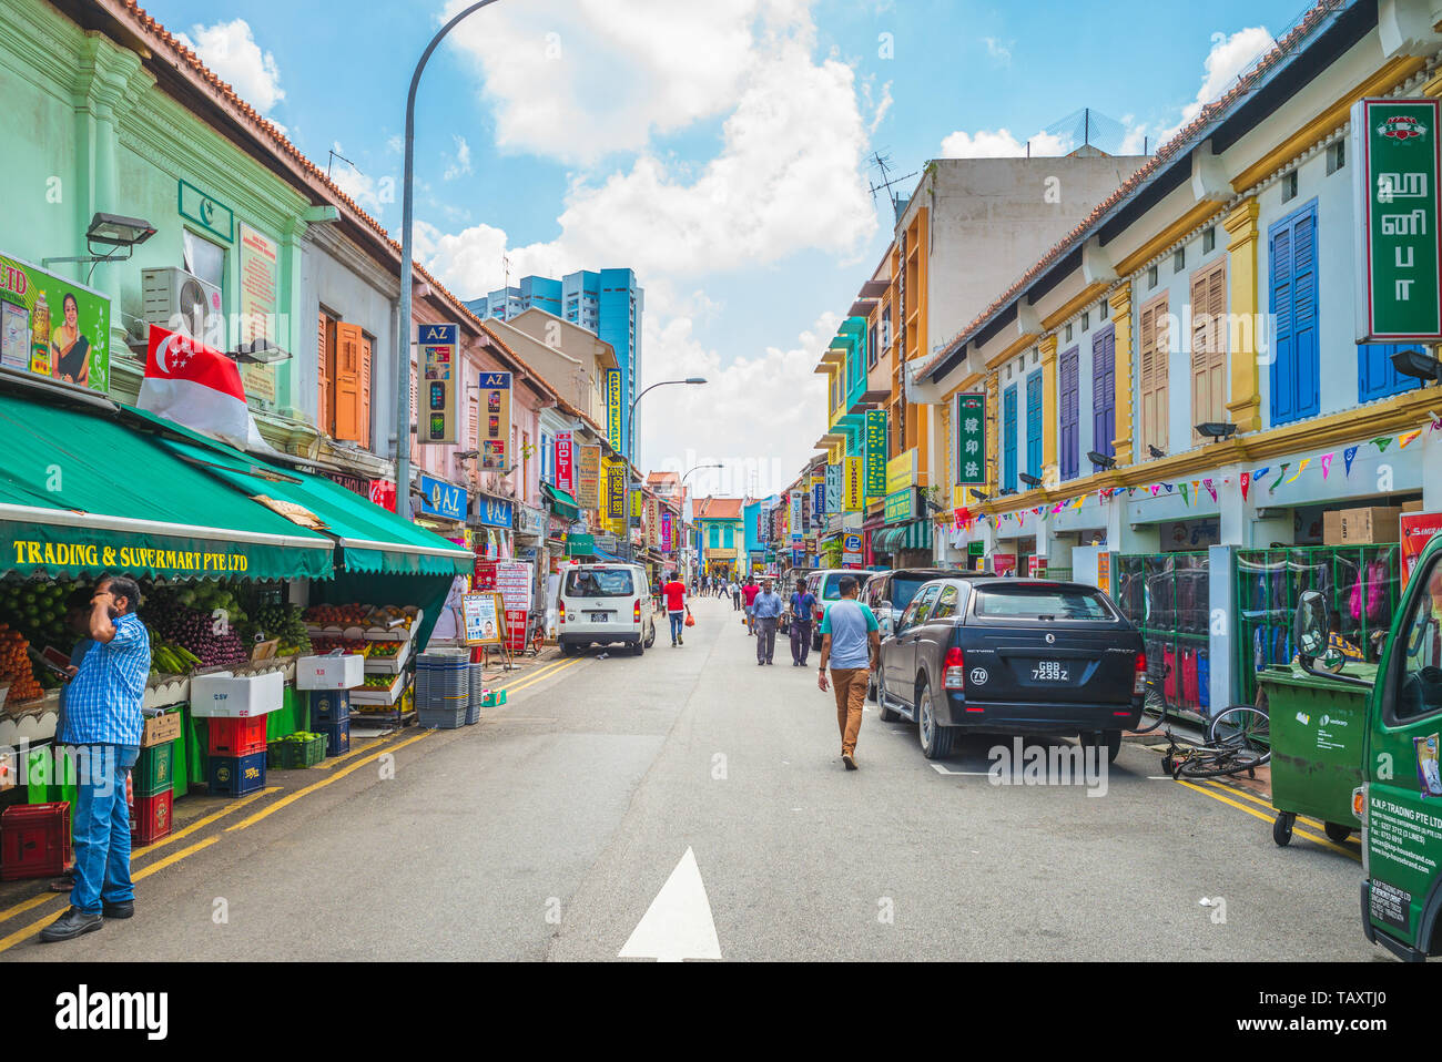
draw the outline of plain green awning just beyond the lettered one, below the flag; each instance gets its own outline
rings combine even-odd
[[[169,425],[167,425],[169,427]],[[174,454],[203,461],[218,478],[251,496],[313,513],[342,548],[337,568],[372,575],[466,575],[476,556],[425,527],[322,476],[265,464],[222,442],[166,439]]]

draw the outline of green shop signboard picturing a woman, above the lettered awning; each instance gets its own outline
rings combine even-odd
[[[110,391],[110,298],[0,255],[0,365]]]

